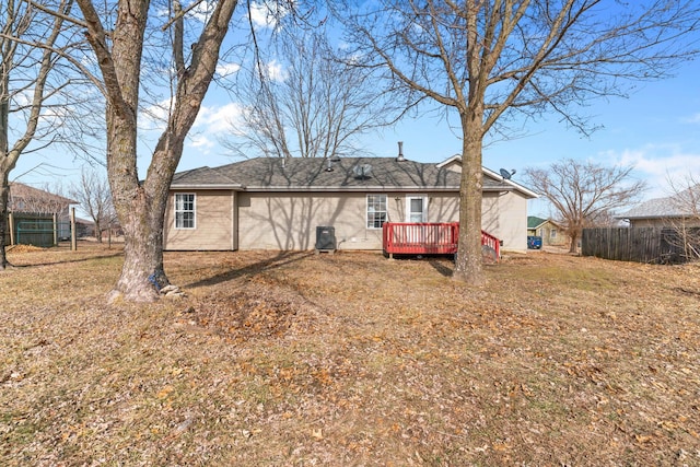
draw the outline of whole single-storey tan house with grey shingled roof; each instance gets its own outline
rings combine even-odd
[[[166,249],[313,249],[332,226],[338,249],[383,246],[385,222],[455,222],[460,159],[258,157],[175,174]],[[481,227],[526,249],[527,200],[537,195],[483,170]]]

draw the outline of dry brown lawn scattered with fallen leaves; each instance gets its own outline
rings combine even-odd
[[[3,466],[700,465],[700,267],[118,249],[0,272]]]

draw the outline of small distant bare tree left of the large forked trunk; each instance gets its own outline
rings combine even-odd
[[[93,170],[80,174],[80,182],[70,188],[70,196],[82,206],[95,224],[95,237],[102,243],[102,233],[117,223],[109,184]]]

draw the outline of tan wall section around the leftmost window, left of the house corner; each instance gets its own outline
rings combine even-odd
[[[175,229],[175,194],[195,194],[195,229]],[[236,192],[231,190],[171,191],[165,210],[165,249],[237,249],[234,232]]]

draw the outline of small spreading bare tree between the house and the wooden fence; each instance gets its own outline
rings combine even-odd
[[[609,225],[615,209],[629,206],[646,189],[632,180],[634,167],[606,167],[567,159],[548,168],[525,168],[526,182],[555,208],[575,253],[584,227]]]

